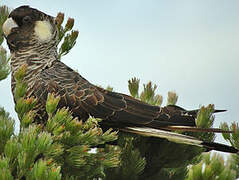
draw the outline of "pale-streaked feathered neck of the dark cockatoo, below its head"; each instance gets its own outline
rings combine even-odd
[[[11,53],[12,91],[16,87],[14,74],[22,65],[27,65],[24,81],[28,88],[33,87],[34,78],[57,60],[57,46],[26,47]]]

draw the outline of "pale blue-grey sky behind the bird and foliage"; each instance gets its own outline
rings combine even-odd
[[[30,5],[64,12],[80,31],[63,62],[91,83],[128,93],[127,81],[152,81],[166,102],[179,95],[186,109],[215,104],[226,113],[215,125],[239,120],[238,0],[0,0],[14,9]],[[0,106],[12,117],[10,77],[0,82]],[[17,119],[17,118],[16,118]],[[222,141],[222,138],[218,138]]]

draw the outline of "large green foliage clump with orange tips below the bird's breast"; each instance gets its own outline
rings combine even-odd
[[[111,129],[103,132],[98,125],[99,119],[89,118],[83,123],[73,118],[68,109],[57,110],[59,97],[48,95],[46,111],[49,119],[45,126],[32,123],[36,100],[26,98],[24,94],[26,69],[27,66],[22,66],[15,73],[18,97],[15,109],[21,121],[21,131],[16,137],[8,135],[2,145],[2,160],[10,163],[7,172],[18,179],[92,179],[103,178],[107,168],[118,166],[118,149],[94,148],[115,141],[116,132]],[[9,130],[5,128],[4,133]]]

